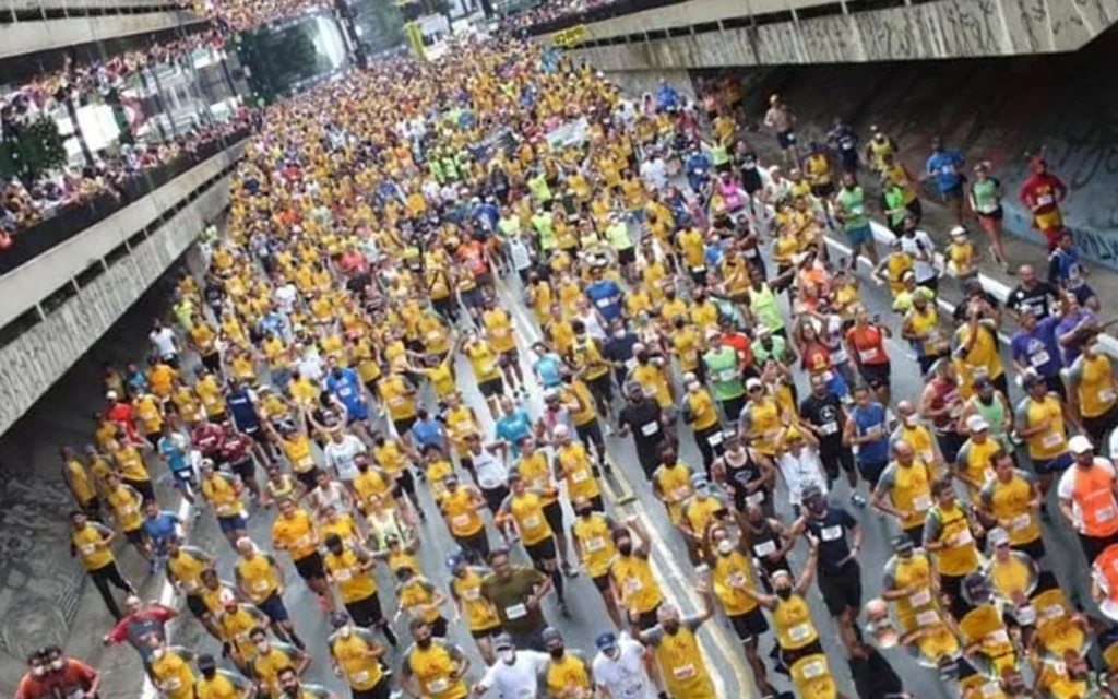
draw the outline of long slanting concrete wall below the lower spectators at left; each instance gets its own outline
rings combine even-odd
[[[41,286],[48,289],[48,293],[58,287],[54,281],[38,284],[40,276],[60,277],[60,284],[73,284],[70,289],[77,290],[57,308],[45,309],[38,323],[0,348],[0,434],[35,405],[187,251],[206,220],[217,216],[228,205],[229,176],[214,182],[142,242],[132,246],[126,244],[127,238],[189,196],[199,185],[231,166],[240,152],[241,147],[235,147],[215,157],[168,183],[157,195],[77,236],[67,249],[54,255],[47,253],[42,257],[51,258],[36,259],[0,280],[0,299],[6,300],[8,309],[34,306],[38,303],[37,299],[41,300],[41,296],[26,291],[25,286]],[[133,210],[136,207],[139,211]],[[102,257],[122,243],[127,246],[129,254],[106,265]],[[72,277],[91,263],[101,265],[104,271],[78,287]],[[13,303],[15,300],[19,300],[19,305]]]

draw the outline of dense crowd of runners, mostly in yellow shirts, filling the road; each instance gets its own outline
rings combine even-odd
[[[949,317],[912,199],[887,192],[897,239],[878,261],[864,162],[841,132],[800,158],[779,98],[787,177],[757,163],[732,104],[690,108],[666,85],[631,101],[511,40],[447,55],[271,107],[205,278],[182,277],[145,366],[106,366],[91,444],[61,450],[72,552],[120,620],[106,642],[131,641],[169,699],[335,696],[300,679],[312,661],[357,699],[703,699],[723,670],[700,627],[722,615],[758,697],[843,697],[847,663],[860,696],[907,696],[879,652],[897,645],[893,663],[964,699],[1114,691],[1118,384],[1078,263],[1054,284],[1023,266],[1004,308],[970,278]],[[888,141],[868,145],[880,170]],[[961,157],[937,152],[950,198]],[[997,195],[972,190],[975,210]],[[843,233],[845,261],[824,242]],[[966,270],[977,252],[955,240]],[[896,318],[863,306],[874,281]],[[925,380],[902,395],[909,353]],[[676,531],[615,511],[620,441]],[[183,537],[164,471],[227,541]],[[418,552],[444,527],[440,586]],[[865,527],[893,548],[863,591]],[[1093,599],[1059,584],[1050,528],[1082,544]],[[661,536],[685,545],[695,615],[661,587]],[[135,596],[119,540],[211,641],[173,645],[176,611]],[[590,604],[565,595],[575,576],[607,612],[595,648],[557,629]],[[300,585],[335,630],[324,646],[292,621]],[[29,665],[21,699],[96,695],[59,649]]]

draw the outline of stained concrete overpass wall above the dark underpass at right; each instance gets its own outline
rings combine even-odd
[[[749,4],[692,0],[596,22],[586,28],[587,40],[714,21],[720,15],[748,17]],[[847,12],[833,16],[575,54],[603,70],[1007,56],[1076,50],[1118,20],[1118,0],[939,0],[863,12],[852,11],[855,2],[845,7]]]

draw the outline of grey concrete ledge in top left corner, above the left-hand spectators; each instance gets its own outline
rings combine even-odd
[[[0,58],[173,29],[196,21],[193,12],[145,12],[0,25]]]

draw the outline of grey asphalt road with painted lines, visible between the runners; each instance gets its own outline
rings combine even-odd
[[[510,284],[512,284],[511,289],[502,284],[499,290],[502,297],[501,305],[511,310],[517,324],[521,358],[525,365],[524,372],[525,376],[530,377],[531,370],[528,367],[528,357],[530,353],[528,348],[539,337],[539,330],[534,325],[530,312],[520,301],[521,292],[519,282],[512,278]],[[891,325],[896,336],[899,337],[899,323],[897,322],[899,318],[896,318],[889,310],[890,299],[888,297],[888,291],[872,283],[864,283],[862,299],[871,313],[880,312],[883,318],[892,319]],[[785,310],[787,312],[787,309]],[[888,344],[888,350],[893,362],[894,400],[902,398],[916,399],[922,389],[923,380],[920,378],[916,360],[910,355],[909,348],[903,341],[894,339]],[[1008,363],[1007,358],[1003,357],[1003,359]],[[468,363],[461,357],[458,358],[458,376],[459,379],[461,377],[471,376]],[[536,416],[541,408],[540,395],[538,387],[534,386],[531,378],[529,378],[529,381],[531,390],[524,404],[529,412]],[[799,385],[800,395],[805,395],[806,385],[804,376],[797,374],[797,384]],[[459,380],[459,389],[463,391],[466,403],[474,407],[482,419],[483,428],[491,429],[492,424],[489,422],[487,410],[473,382]],[[1015,403],[1018,397],[1017,391],[1014,389],[1011,400]],[[690,429],[682,427],[680,429],[680,437],[681,460],[692,464],[697,469],[701,469],[702,460]],[[679,604],[684,614],[697,611],[699,601],[694,592],[694,584],[698,579],[698,573],[689,563],[680,535],[672,528],[665,510],[653,497],[651,488],[644,479],[632,446],[632,440],[617,436],[607,437],[607,446],[612,461],[618,466],[618,494],[627,494],[626,491],[629,491],[633,495],[631,501],[624,506],[618,506],[610,499],[609,504],[614,510],[614,514],[618,518],[635,514],[643,519],[646,528],[653,536],[653,563],[665,595]],[[319,459],[321,462],[321,454],[319,454]],[[610,489],[607,488],[605,490],[608,495]],[[429,495],[426,493],[426,489],[421,487],[420,491],[423,504],[426,510],[435,512],[436,510]],[[783,497],[783,483],[778,484],[778,492],[780,494],[777,498],[777,512],[784,521],[790,522],[793,518],[792,509],[786,503],[786,498]],[[864,598],[869,599],[880,592],[880,572],[890,556],[889,539],[894,533],[896,527],[891,521],[877,516],[872,509],[859,511],[850,508],[846,504],[847,495],[849,492],[845,482],[841,481],[836,483],[832,493],[832,500],[847,507],[852,514],[861,521],[864,530],[863,547],[859,561],[863,570]],[[1050,509],[1053,512],[1055,511],[1054,506]],[[568,511],[567,514],[569,521],[571,513]],[[268,545],[273,517],[274,513],[267,510],[257,511],[252,517],[249,533],[258,544]],[[1063,583],[1064,589],[1078,591],[1081,598],[1089,598],[1084,587],[1087,579],[1084,563],[1073,535],[1062,523],[1055,523],[1055,526],[1046,525],[1044,529],[1049,550],[1049,559],[1045,561],[1046,566],[1057,572],[1057,575]],[[491,540],[495,541],[496,537],[492,525],[490,525],[490,532]],[[420,526],[419,536],[423,541],[419,552],[423,572],[445,591],[449,577],[445,568],[445,560],[451,552],[456,550],[456,546],[451,539],[442,519],[438,517],[429,517],[427,522]],[[222,577],[231,578],[231,566],[235,560],[234,552],[219,536],[216,523],[208,514],[203,514],[196,522],[190,539],[196,546],[202,546],[216,554],[219,573]],[[527,557],[524,557],[519,548],[514,552],[520,560],[527,563]],[[805,555],[806,545],[802,542],[797,545],[797,548],[792,554],[794,569],[799,569]],[[326,616],[319,610],[306,587],[299,582],[294,567],[287,557],[280,555],[278,558],[285,566],[288,580],[292,582],[287,586],[285,599],[293,614],[299,633],[307,642],[309,649],[315,658],[314,663],[307,671],[306,680],[322,683],[347,696],[342,681],[333,676],[326,660],[325,639],[330,633]],[[392,580],[382,566],[378,567],[377,574],[381,587],[381,598],[387,608],[395,610],[395,599],[390,592],[392,589]],[[547,617],[563,632],[569,648],[582,649],[593,655],[595,636],[609,626],[600,597],[589,578],[580,576],[576,579],[567,579],[567,598],[570,607],[570,616],[568,618],[562,617],[558,613],[553,595],[544,602]],[[850,678],[849,665],[844,660],[845,654],[839,640],[837,630],[830,620],[822,597],[815,589],[808,594],[808,603],[815,623],[821,630],[823,645],[831,659],[832,671],[840,680],[840,689],[849,697],[856,697],[853,682]],[[398,633],[404,640],[400,646],[402,649],[408,640],[407,630],[398,629]],[[740,646],[737,644],[733,632],[721,615],[709,623],[699,635],[711,674],[716,678],[719,696],[756,696],[749,670],[740,653]],[[465,649],[466,653],[473,659],[475,664],[471,674],[475,678],[479,677],[481,659],[464,627],[462,625],[452,626],[451,637]],[[191,618],[184,618],[179,624],[173,640],[176,643],[183,644],[196,651],[208,650],[216,653],[219,650],[218,644]],[[771,636],[762,641],[762,657],[771,648],[773,642]],[[925,699],[950,699],[957,696],[954,687],[941,683],[934,671],[917,665],[902,650],[887,651],[885,657],[904,680],[907,689],[916,696]],[[394,667],[398,667],[398,652],[394,654],[391,662]],[[785,678],[771,671],[769,674],[770,680],[778,689],[790,689],[790,684],[785,681]]]

